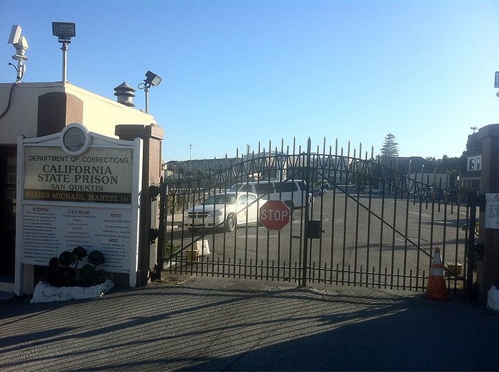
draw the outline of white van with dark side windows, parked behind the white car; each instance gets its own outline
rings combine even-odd
[[[290,210],[297,210],[306,204],[306,184],[304,180],[263,180],[260,182],[243,183],[238,192],[252,192],[262,201],[283,201]],[[311,202],[312,194],[308,194]],[[260,203],[260,205],[263,203]]]

